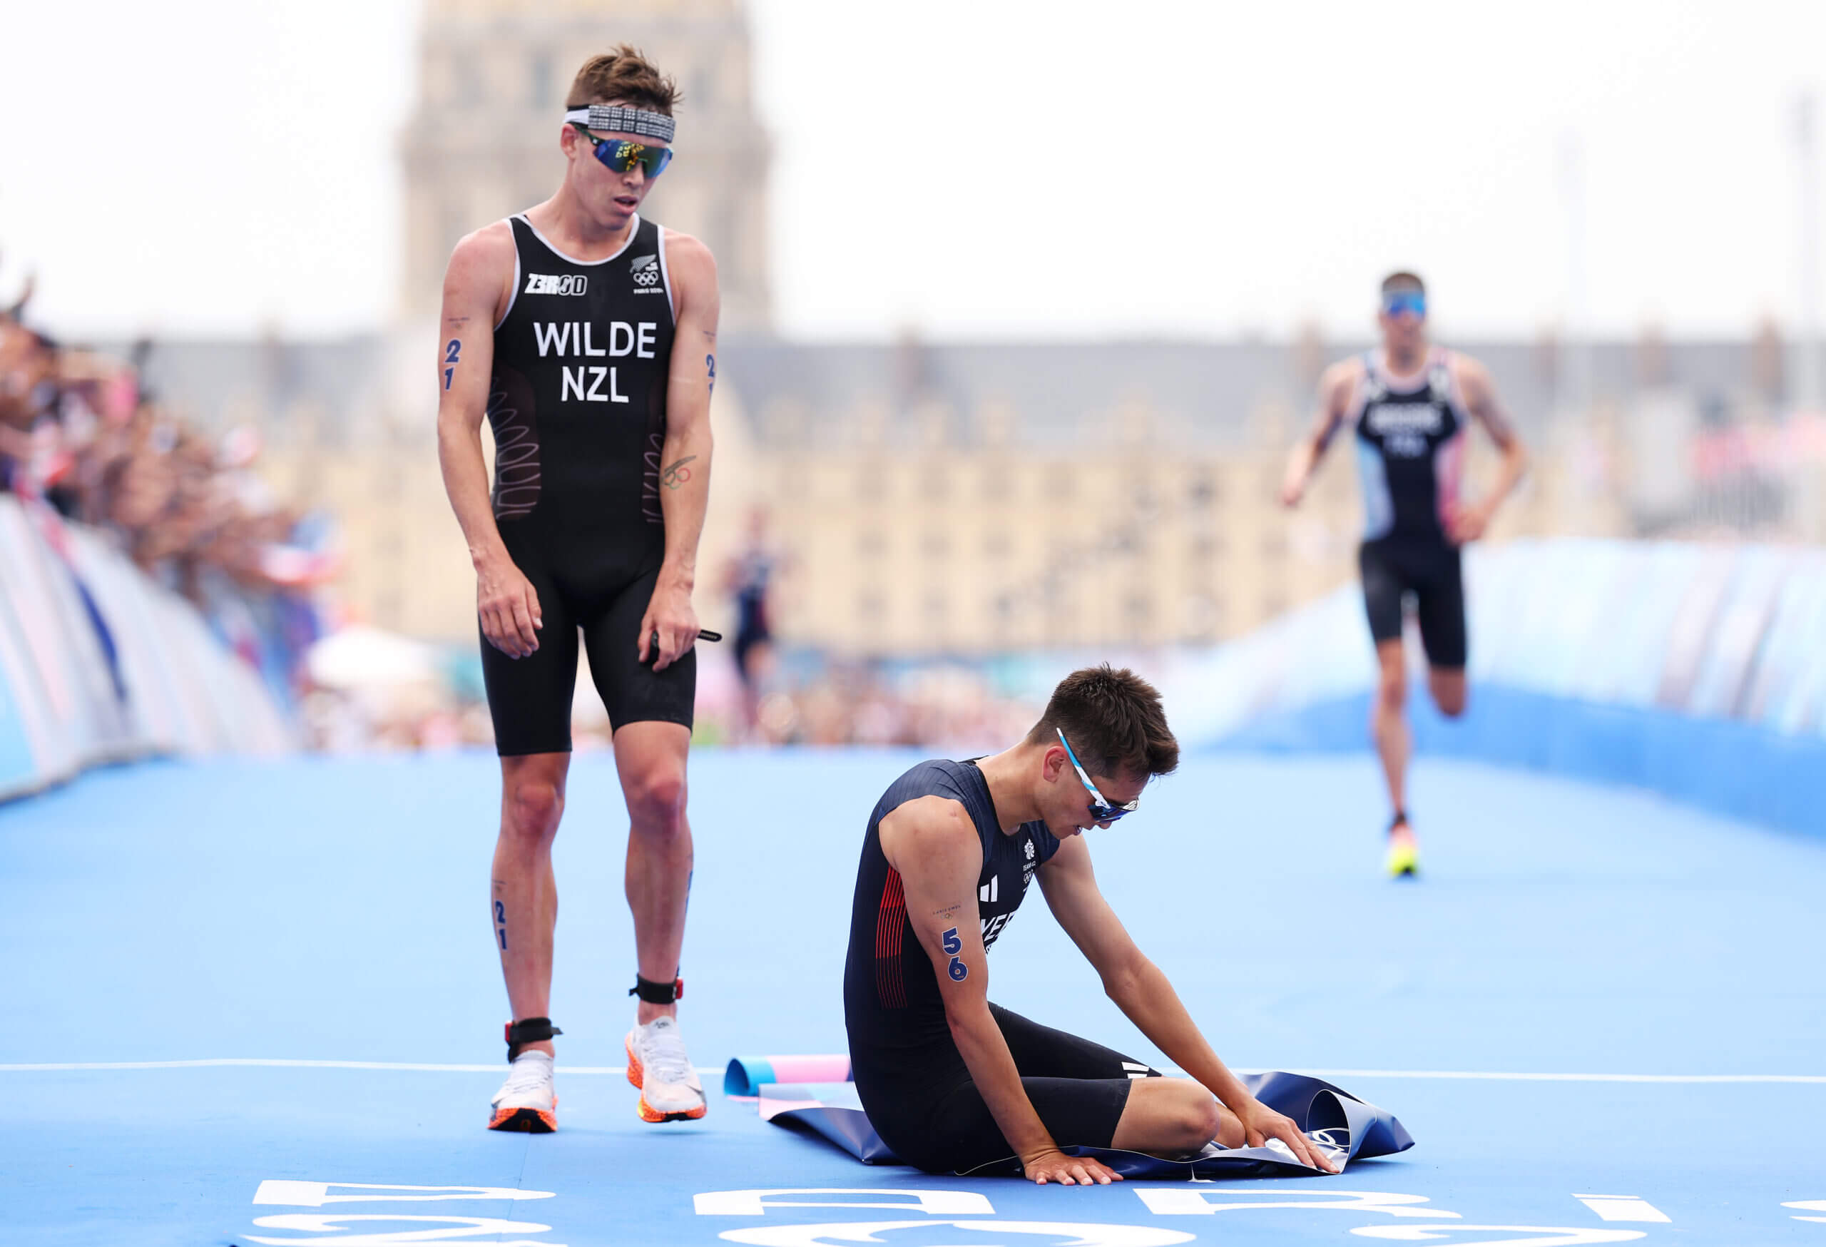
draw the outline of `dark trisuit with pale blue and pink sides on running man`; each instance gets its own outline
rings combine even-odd
[[[1464,666],[1464,579],[1444,519],[1459,497],[1470,418],[1450,356],[1432,351],[1419,383],[1395,389],[1377,354],[1366,354],[1353,407],[1364,495],[1357,566],[1370,635],[1401,639],[1401,599],[1413,593],[1428,663]]]

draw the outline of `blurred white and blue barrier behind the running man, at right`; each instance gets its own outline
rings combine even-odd
[[[1466,555],[1468,712],[1410,697],[1415,745],[1826,834],[1826,553],[1516,542]],[[1181,663],[1187,747],[1370,747],[1375,666],[1348,586]],[[1410,654],[1419,663],[1419,654]]]

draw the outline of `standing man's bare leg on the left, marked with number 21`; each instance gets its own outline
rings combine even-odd
[[[559,920],[551,842],[564,814],[568,772],[570,754],[500,760],[500,838],[495,842],[489,918],[513,1021],[551,1017],[551,931]],[[551,1052],[551,1041],[526,1048]]]

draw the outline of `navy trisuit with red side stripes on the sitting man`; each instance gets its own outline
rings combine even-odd
[[[928,1172],[968,1172],[1013,1148],[970,1081],[951,1041],[931,959],[906,913],[900,873],[882,856],[882,818],[920,796],[960,802],[982,838],[977,911],[993,946],[1059,842],[1044,823],[1004,836],[990,785],[968,761],[922,761],[893,781],[869,814],[856,871],[844,964],[844,1021],[856,1094],[869,1125],[900,1159]],[[992,1004],[1034,1110],[1059,1147],[1108,1147],[1128,1103],[1128,1081],[1154,1075],[1088,1039],[1030,1022]]]

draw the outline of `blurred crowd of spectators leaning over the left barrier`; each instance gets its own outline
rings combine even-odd
[[[208,436],[150,393],[150,343],[131,360],[68,347],[27,323],[29,301],[27,281],[0,310],[0,493],[108,533],[290,701],[310,590],[336,571],[327,524],[272,498],[254,429]]]

